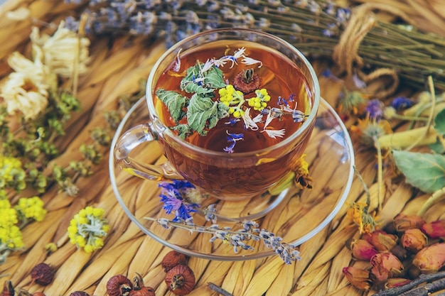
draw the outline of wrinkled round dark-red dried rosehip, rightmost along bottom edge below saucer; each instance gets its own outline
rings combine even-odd
[[[195,287],[195,274],[187,265],[176,265],[165,278],[168,290],[176,295],[187,295]]]

